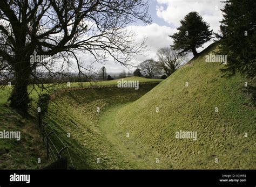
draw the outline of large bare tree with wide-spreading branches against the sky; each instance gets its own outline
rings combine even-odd
[[[28,84],[42,78],[38,71],[59,77],[76,66],[84,74],[78,51],[128,66],[145,41],[134,43],[125,27],[136,20],[151,23],[147,9],[145,0],[1,0],[0,71],[15,77],[10,106],[27,111]],[[33,54],[41,57],[31,60]]]

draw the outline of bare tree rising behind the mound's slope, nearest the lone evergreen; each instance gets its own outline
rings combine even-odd
[[[173,50],[171,47],[160,48],[157,52],[157,57],[161,70],[167,76],[176,71],[185,60],[185,56],[180,55],[178,51]]]

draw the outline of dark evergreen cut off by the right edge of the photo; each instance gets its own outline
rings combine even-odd
[[[231,74],[240,71],[247,77],[256,75],[256,2],[225,2],[223,20],[220,21],[221,55],[227,55],[224,69]]]

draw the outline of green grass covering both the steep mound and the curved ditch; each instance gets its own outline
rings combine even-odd
[[[223,64],[205,62],[217,50],[209,46],[156,87],[65,92],[50,103],[44,121],[69,146],[78,169],[255,169],[255,103],[244,87],[255,83],[223,77]],[[197,141],[176,139],[180,130],[197,131]]]

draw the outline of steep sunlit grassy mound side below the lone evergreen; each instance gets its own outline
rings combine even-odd
[[[224,65],[205,62],[217,50],[211,45],[143,97],[106,111],[99,126],[107,139],[152,169],[255,169],[255,105],[244,78],[221,77]],[[197,141],[176,139],[180,130],[197,131]]]

